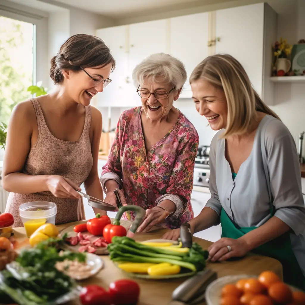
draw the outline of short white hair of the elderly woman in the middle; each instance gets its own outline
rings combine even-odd
[[[177,58],[165,53],[156,53],[144,59],[132,72],[136,87],[145,80],[164,82],[180,89],[187,78],[184,64]]]

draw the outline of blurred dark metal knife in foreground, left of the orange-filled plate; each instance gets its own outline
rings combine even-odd
[[[173,301],[195,304],[204,300],[206,287],[217,279],[216,272],[206,269],[179,285],[172,293]],[[194,303],[193,303],[194,302]]]

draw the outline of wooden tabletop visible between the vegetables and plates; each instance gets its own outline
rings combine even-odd
[[[70,224],[62,224],[57,227],[59,230],[67,228],[71,225],[75,225],[81,222],[74,222]],[[148,239],[160,238],[167,230],[163,228],[157,228],[146,234],[140,233],[135,235],[135,240],[144,241]],[[15,228],[15,237],[19,242],[26,243],[26,235],[24,228]],[[197,242],[203,249],[207,249],[212,242],[200,239],[197,237],[193,238],[194,242]],[[23,243],[24,244],[24,243]],[[24,244],[25,245],[25,244]],[[80,282],[80,285],[86,286],[89,284],[97,284],[104,288],[108,288],[109,283],[118,279],[126,278],[126,275],[114,266],[113,262],[109,260],[106,255],[102,256],[105,262],[105,267],[96,276],[89,278],[88,280]],[[233,275],[233,274],[254,274],[258,275],[264,270],[271,270],[283,278],[282,265],[278,260],[270,257],[264,257],[259,255],[248,255],[241,260],[221,263],[208,263],[207,268],[210,268],[217,272],[218,277]],[[138,278],[132,278],[140,285],[141,293],[138,305],[166,305],[171,300],[171,294],[173,290],[179,286],[186,278],[173,279],[170,281],[160,280],[142,280]],[[80,304],[80,302],[70,302],[72,305]],[[203,303],[204,304],[204,303]]]

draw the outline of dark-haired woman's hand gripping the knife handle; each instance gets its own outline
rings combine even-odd
[[[72,182],[70,179],[63,176],[51,175],[47,178],[46,185],[55,197],[79,199],[81,195],[76,192],[81,188]]]

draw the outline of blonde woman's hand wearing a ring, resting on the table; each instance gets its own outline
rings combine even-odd
[[[229,246],[229,247],[228,247]],[[229,251],[229,249],[231,249]],[[208,248],[211,262],[227,260],[231,257],[241,257],[249,251],[246,241],[243,239],[231,239],[223,237],[214,242]]]

